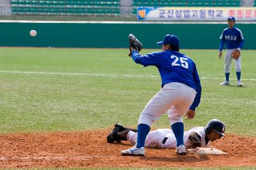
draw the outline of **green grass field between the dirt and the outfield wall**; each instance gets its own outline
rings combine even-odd
[[[142,50],[141,53],[155,50]],[[212,118],[226,132],[256,136],[256,51],[244,50],[242,80],[221,87],[224,60],[217,50],[181,50],[195,60],[202,99],[186,129]],[[156,67],[135,64],[124,49],[0,48],[0,131],[51,132],[104,129],[120,122],[136,127],[161,80]],[[170,127],[164,115],[153,128]]]

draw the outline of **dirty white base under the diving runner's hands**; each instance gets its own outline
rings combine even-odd
[[[189,154],[197,154],[197,155],[228,155],[228,153],[218,150],[216,148],[195,148],[188,149]]]

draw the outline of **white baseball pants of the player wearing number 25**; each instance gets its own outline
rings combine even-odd
[[[138,124],[151,127],[164,113],[170,124],[183,122],[182,115],[188,111],[196,96],[196,90],[183,83],[166,83],[148,102],[142,111]]]

